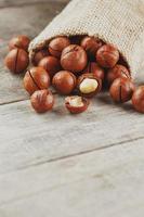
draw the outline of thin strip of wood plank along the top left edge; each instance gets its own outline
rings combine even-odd
[[[48,2],[65,2],[69,0],[0,0],[0,8],[10,8],[10,7],[22,7],[26,4],[43,4]]]

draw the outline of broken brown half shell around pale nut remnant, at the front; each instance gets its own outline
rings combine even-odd
[[[70,104],[70,101],[73,99],[76,99],[76,98],[80,98],[81,99],[82,103],[81,103],[80,106]],[[82,98],[82,97],[78,97],[78,95],[71,95],[71,97],[67,97],[65,99],[65,106],[71,114],[79,114],[79,113],[84,112],[88,108],[89,104],[90,104],[90,101],[88,99]]]

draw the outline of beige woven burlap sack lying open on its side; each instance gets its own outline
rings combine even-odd
[[[144,68],[144,0],[71,0],[31,41],[30,58],[60,35],[95,36],[116,44],[134,77]]]

